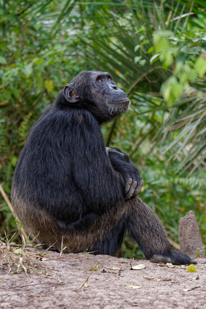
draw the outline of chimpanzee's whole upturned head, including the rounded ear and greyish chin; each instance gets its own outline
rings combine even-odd
[[[70,106],[84,108],[103,123],[128,110],[130,100],[107,72],[87,71],[75,76],[64,88]]]

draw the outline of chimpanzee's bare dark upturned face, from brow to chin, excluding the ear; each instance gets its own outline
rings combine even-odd
[[[117,116],[126,112],[130,105],[130,100],[126,93],[118,88],[107,72],[92,72],[91,93],[95,101],[100,105],[105,105],[111,115]]]

